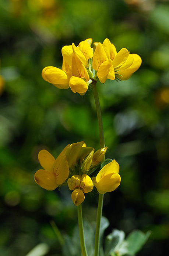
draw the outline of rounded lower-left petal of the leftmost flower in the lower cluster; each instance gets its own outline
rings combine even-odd
[[[59,186],[56,182],[56,176],[52,172],[46,170],[38,170],[35,173],[34,178],[39,186],[47,190],[54,190]]]

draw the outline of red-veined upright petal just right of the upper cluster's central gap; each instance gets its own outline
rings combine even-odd
[[[105,53],[105,50],[104,50],[102,44],[98,43],[96,50],[94,52],[94,56],[93,56],[92,65],[93,65],[94,70],[98,71],[101,64],[107,60],[108,60],[108,57],[106,56],[106,53]]]

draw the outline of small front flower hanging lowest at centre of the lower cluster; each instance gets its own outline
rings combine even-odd
[[[80,205],[84,199],[84,193],[91,192],[93,189],[92,179],[87,174],[74,175],[67,181],[68,188],[73,190],[71,199],[74,205]]]

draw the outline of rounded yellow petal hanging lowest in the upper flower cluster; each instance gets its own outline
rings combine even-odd
[[[80,77],[71,77],[69,80],[70,89],[76,93],[83,95],[88,90],[87,83]]]

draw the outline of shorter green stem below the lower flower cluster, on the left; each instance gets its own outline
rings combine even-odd
[[[86,245],[85,245],[85,239],[84,239],[84,228],[83,228],[81,204],[77,206],[77,215],[78,215],[79,235],[80,235],[80,245],[81,245],[82,256],[88,256]]]

